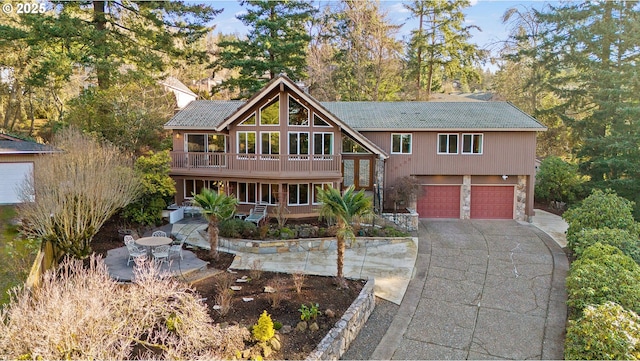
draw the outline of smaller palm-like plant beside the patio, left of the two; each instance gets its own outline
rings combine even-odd
[[[209,221],[209,245],[211,256],[218,257],[218,223],[229,219],[236,211],[238,200],[226,194],[219,194],[203,188],[200,194],[193,196],[193,201],[202,208],[202,214]]]

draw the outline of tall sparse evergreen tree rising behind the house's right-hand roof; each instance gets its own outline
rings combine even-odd
[[[468,0],[414,0],[405,4],[419,21],[407,51],[407,71],[415,79],[416,100],[422,100],[423,88],[428,100],[434,84],[444,83],[445,79],[458,79],[462,84],[479,79],[475,65],[485,54],[469,42],[471,30],[480,29],[463,26],[462,9],[468,6]],[[442,78],[437,79],[438,76]]]

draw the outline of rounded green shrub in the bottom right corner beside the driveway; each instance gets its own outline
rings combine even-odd
[[[640,358],[639,321],[635,312],[614,302],[588,306],[582,318],[569,321],[565,360],[637,360]]]

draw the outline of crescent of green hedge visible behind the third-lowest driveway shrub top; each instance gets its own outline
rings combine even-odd
[[[582,253],[596,243],[608,244],[619,248],[624,254],[640,264],[640,240],[624,229],[583,229],[567,236],[567,247],[580,258]]]

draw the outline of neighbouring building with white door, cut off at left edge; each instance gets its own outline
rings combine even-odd
[[[20,203],[22,186],[33,175],[35,157],[53,152],[48,145],[0,133],[0,204]]]

